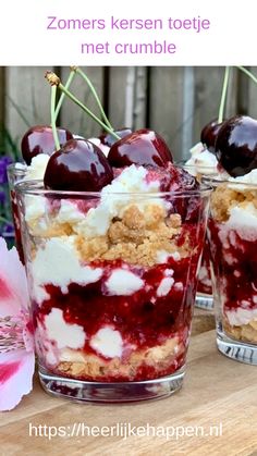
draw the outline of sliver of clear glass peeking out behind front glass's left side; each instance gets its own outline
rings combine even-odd
[[[9,192],[10,192],[10,199],[11,199],[11,207],[12,207],[12,218],[13,218],[13,226],[14,226],[14,236],[15,236],[15,245],[19,251],[19,257],[24,264],[24,254],[23,254],[23,246],[22,246],[22,236],[21,236],[21,222],[20,215],[17,211],[17,201],[16,201],[16,193],[15,193],[15,184],[21,182],[26,176],[27,167],[23,163],[11,163],[8,167],[8,183],[9,183]]]

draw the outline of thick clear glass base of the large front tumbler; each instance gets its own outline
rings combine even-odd
[[[47,393],[76,402],[128,403],[168,397],[183,384],[185,370],[142,382],[88,382],[54,375],[39,366],[39,380]]]

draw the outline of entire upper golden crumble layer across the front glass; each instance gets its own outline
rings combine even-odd
[[[81,213],[83,215],[83,213]],[[191,239],[184,236],[182,245],[178,241],[182,232],[182,221],[178,213],[167,214],[160,205],[149,204],[144,212],[136,205],[128,206],[121,218],[113,218],[105,235],[86,236],[77,233],[76,220],[58,223],[54,212],[48,213],[47,225],[37,222],[37,227],[30,224],[35,236],[35,250],[41,248],[41,241],[61,237],[74,239],[75,255],[82,262],[120,259],[130,264],[152,267],[160,262],[159,254],[164,258],[178,252],[180,258],[192,256]],[[36,245],[38,244],[38,245]],[[196,247],[197,248],[197,247]]]

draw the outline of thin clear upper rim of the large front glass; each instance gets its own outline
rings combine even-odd
[[[77,192],[77,190],[54,190],[54,189],[46,189],[44,188],[44,181],[42,180],[32,180],[32,181],[23,181],[17,182],[14,185],[15,192],[21,195],[34,195],[34,196],[71,196],[71,197],[85,197],[90,196],[93,198],[99,198],[102,196],[101,192]],[[143,198],[158,198],[158,197],[166,197],[166,196],[180,196],[180,197],[192,197],[192,196],[208,196],[212,192],[212,186],[207,185],[204,183],[199,184],[198,189],[184,189],[184,190],[174,190],[174,192],[107,192],[105,196],[112,195],[112,196],[120,196],[126,197],[127,195],[134,195],[135,197],[143,197]]]

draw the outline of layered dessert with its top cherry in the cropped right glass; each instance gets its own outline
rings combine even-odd
[[[257,343],[257,122],[229,120],[217,138],[227,172],[213,181],[209,238],[218,328],[231,338]]]

